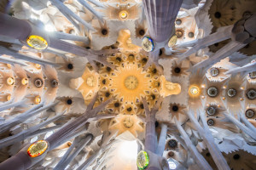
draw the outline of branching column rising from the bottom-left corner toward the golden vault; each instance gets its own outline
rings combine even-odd
[[[92,99],[90,104],[88,105],[86,111],[82,116],[79,116],[78,118],[74,119],[71,122],[67,122],[67,124],[64,127],[61,127],[56,133],[53,133],[49,138],[45,139],[45,141],[48,143],[47,150],[44,151],[40,156],[37,157],[30,157],[26,151],[28,150],[29,146],[31,144],[26,145],[23,149],[20,150],[15,156],[12,156],[6,161],[3,161],[0,164],[0,169],[28,169],[35,165],[38,161],[41,161],[44,159],[44,156],[46,156],[47,152],[49,150],[55,149],[60,144],[63,144],[66,140],[70,139],[71,137],[75,137],[77,130],[79,130],[80,127],[83,127],[86,122],[89,122],[91,120],[98,120],[101,118],[110,118],[113,117],[113,115],[97,115],[98,112],[102,111],[106,105],[108,105],[113,99],[108,99],[101,105],[98,105],[96,108],[93,108],[95,105],[96,96]]]

